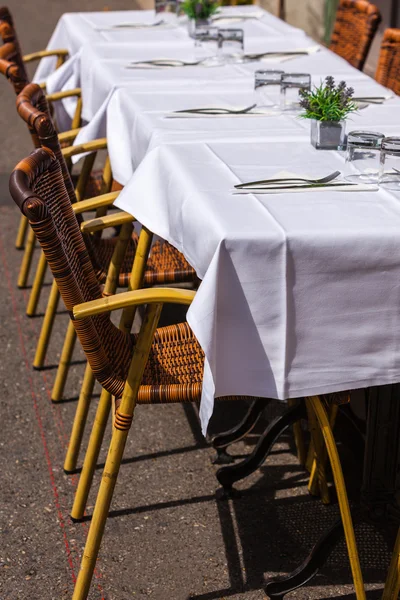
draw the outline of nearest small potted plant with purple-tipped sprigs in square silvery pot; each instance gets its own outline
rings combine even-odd
[[[353,101],[354,90],[345,81],[335,85],[328,76],[313,90],[300,90],[303,119],[311,119],[311,143],[321,150],[345,148],[346,117],[357,110]]]

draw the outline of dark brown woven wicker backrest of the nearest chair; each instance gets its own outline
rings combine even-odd
[[[76,304],[101,298],[55,154],[40,148],[21,161],[11,175],[10,192],[29,219],[69,313],[72,315]],[[133,338],[117,329],[108,314],[73,320],[73,324],[95,377],[112,395],[120,397]]]

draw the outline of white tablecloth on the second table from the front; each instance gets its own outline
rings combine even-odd
[[[388,90],[371,80],[355,81],[358,95],[384,95]],[[308,141],[310,124],[296,115],[260,117],[243,115],[235,117],[204,117],[196,119],[168,118],[176,110],[200,107],[244,108],[254,103],[252,83],[243,85],[243,91],[225,86],[218,90],[180,89],[154,92],[138,92],[134,87],[120,88],[111,96],[105,122],[107,131],[96,129],[96,122],[87,128],[85,137],[107,134],[108,150],[114,178],[127,184],[145,155],[164,144],[183,144],[193,141],[229,140],[231,143],[265,139],[271,144],[283,138],[288,144]],[[267,110],[267,108],[266,108]],[[272,111],[271,111],[272,112]],[[384,134],[400,135],[399,102],[393,98],[382,106],[370,105],[348,119],[348,130],[369,129]],[[371,125],[371,123],[373,123]],[[83,136],[81,136],[83,137]],[[97,137],[97,136],[95,136]]]

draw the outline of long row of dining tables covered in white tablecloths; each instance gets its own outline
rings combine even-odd
[[[241,22],[246,11],[254,16]],[[203,431],[215,397],[284,401],[374,388],[370,406],[379,411],[385,404],[386,412],[379,419],[370,410],[364,487],[376,496],[371,473],[385,461],[391,470],[382,489],[397,486],[399,390],[392,384],[400,382],[400,194],[378,185],[243,193],[234,186],[279,173],[319,178],[341,171],[345,155],[316,150],[309,121],[285,111],[172,113],[248,107],[255,102],[254,72],[262,68],[310,73],[313,85],[332,75],[355,96],[384,98],[350,115],[347,131],[400,136],[400,99],[259,7],[223,14],[226,26],[235,15],[239,20],[234,26],[244,29],[245,52],[305,54],[138,68],[134,63],[155,58],[198,59],[186,23],[124,28],[117,26],[151,23],[154,11],[77,13],[62,17],[49,43],[66,47],[70,58],[57,71],[46,59],[36,79],[47,77],[50,92],[81,87],[87,124],[75,143],[107,136],[114,178],[124,185],[116,206],[178,248],[201,279],[187,320],[205,354]],[[201,52],[210,55],[206,46]],[[58,112],[65,127],[73,102]],[[377,422],[392,436],[383,439]]]

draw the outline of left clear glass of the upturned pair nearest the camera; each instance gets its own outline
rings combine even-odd
[[[350,131],[347,136],[344,178],[354,183],[377,183],[384,134]]]

